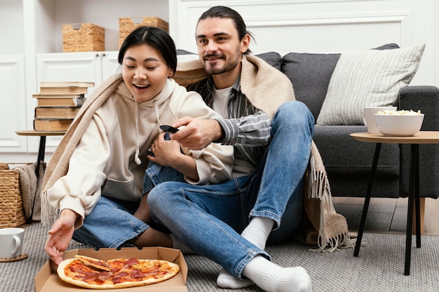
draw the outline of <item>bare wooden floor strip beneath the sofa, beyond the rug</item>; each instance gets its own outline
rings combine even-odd
[[[365,232],[405,234],[407,225],[407,198],[370,199]],[[348,221],[349,230],[356,232],[360,226],[364,198],[332,197],[337,213]],[[426,198],[424,235],[439,235],[439,200]]]

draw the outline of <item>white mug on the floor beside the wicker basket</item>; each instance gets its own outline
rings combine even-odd
[[[0,229],[0,258],[21,256],[25,230],[23,228]]]

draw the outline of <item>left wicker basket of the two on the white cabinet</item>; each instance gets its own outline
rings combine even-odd
[[[62,50],[65,53],[105,50],[105,29],[93,23],[62,25]]]

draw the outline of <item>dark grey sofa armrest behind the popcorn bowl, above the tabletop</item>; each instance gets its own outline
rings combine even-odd
[[[424,113],[421,130],[439,130],[439,89],[435,86],[406,86],[399,92],[398,109]]]

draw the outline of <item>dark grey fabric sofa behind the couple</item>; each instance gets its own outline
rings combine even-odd
[[[388,44],[377,49],[399,48]],[[179,53],[187,53],[179,50]],[[282,71],[292,83],[297,100],[304,102],[314,119],[325,99],[332,71],[340,54],[276,52],[257,55]],[[349,81],[347,81],[349,82]],[[434,86],[407,86],[400,90],[398,109],[421,110],[421,130],[439,130],[439,89]],[[323,158],[335,197],[364,197],[375,144],[359,142],[349,134],[367,132],[365,125],[316,125],[313,140]],[[407,197],[410,145],[382,144],[372,197]],[[439,196],[439,146],[419,146],[421,197]]]

